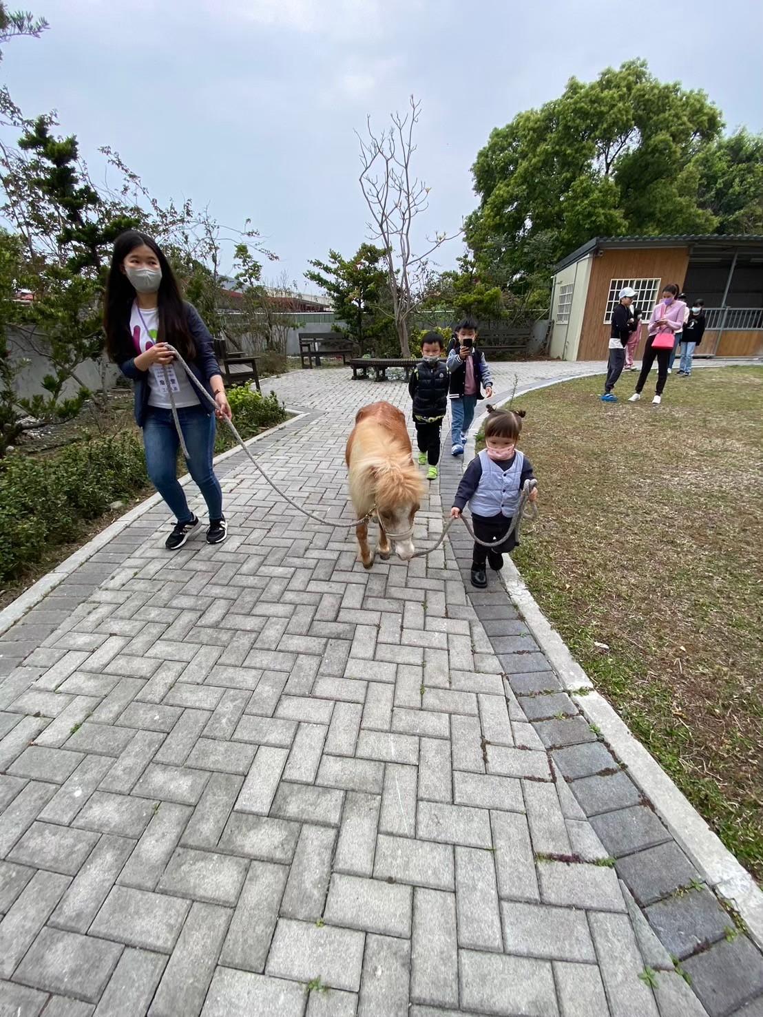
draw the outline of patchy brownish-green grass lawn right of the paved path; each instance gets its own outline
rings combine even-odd
[[[541,516],[515,561],[596,687],[760,882],[763,368],[673,374],[659,408],[653,385],[625,402],[631,377],[618,404],[599,402],[598,377],[516,401]]]

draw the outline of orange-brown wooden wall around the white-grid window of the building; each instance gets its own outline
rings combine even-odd
[[[659,279],[660,289],[667,283],[683,286],[689,264],[686,247],[651,247],[633,250],[604,250],[593,258],[588,297],[583,315],[583,327],[578,345],[578,360],[606,360],[609,348],[609,325],[604,324],[604,310],[612,279]],[[659,291],[657,293],[659,298]],[[648,317],[651,307],[644,307]],[[646,327],[641,330],[637,357],[646,342]]]

